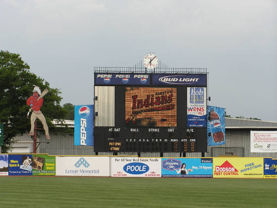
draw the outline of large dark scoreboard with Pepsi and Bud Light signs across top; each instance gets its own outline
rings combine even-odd
[[[95,152],[207,152],[207,70],[94,68]]]

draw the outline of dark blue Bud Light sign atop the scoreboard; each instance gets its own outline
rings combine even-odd
[[[152,85],[206,86],[206,74],[152,74]]]

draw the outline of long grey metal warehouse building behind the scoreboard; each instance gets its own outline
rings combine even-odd
[[[66,120],[69,127],[74,128],[74,121]],[[208,146],[205,157],[216,156],[240,156],[240,157],[273,157],[277,153],[251,153],[250,152],[250,131],[277,131],[277,122],[261,121],[239,118],[225,118],[226,123],[226,144]],[[75,146],[74,134],[51,133],[51,141],[47,143],[44,131],[38,131],[37,143],[27,133],[14,138],[16,141],[10,153],[36,153],[49,155],[113,155],[113,153],[95,153],[93,146]],[[118,153],[118,155],[138,155],[138,153]],[[142,157],[159,157],[160,153],[140,153]],[[164,157],[201,157],[201,153],[163,153]]]

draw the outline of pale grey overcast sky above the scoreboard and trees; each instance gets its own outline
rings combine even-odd
[[[277,0],[0,0],[0,50],[93,104],[94,66],[204,67],[208,105],[277,121]]]

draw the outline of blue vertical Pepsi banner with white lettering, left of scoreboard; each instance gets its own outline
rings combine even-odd
[[[93,146],[94,105],[75,105],[74,145]]]

